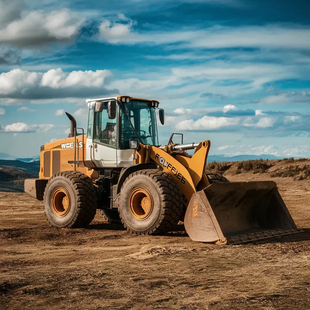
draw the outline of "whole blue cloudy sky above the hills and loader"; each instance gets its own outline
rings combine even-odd
[[[0,152],[86,128],[86,98],[156,99],[210,154],[310,157],[308,1],[0,0]]]

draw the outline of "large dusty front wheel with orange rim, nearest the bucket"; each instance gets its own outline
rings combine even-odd
[[[179,222],[182,192],[171,175],[160,170],[140,170],[125,180],[118,212],[124,227],[135,234],[160,234]]]

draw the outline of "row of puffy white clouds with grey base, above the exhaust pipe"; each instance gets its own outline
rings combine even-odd
[[[104,79],[109,75],[109,70],[64,73],[62,69],[51,69],[41,73],[13,69],[0,74],[0,98],[85,98],[118,93],[117,89],[104,87]]]

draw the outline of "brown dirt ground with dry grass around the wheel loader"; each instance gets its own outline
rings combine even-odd
[[[58,230],[42,202],[0,193],[0,309],[310,309],[310,181],[269,179],[304,232],[236,246],[193,242],[183,225],[130,235],[99,211]]]

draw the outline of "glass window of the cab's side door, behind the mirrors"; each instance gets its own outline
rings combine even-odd
[[[102,112],[95,113],[94,140],[116,147],[116,118],[109,119],[108,103],[104,104]]]

